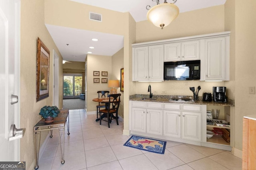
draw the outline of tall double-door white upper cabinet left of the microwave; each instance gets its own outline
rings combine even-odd
[[[163,45],[133,48],[133,81],[163,81]]]

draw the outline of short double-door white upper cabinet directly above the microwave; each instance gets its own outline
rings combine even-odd
[[[164,44],[164,62],[199,60],[199,40]]]

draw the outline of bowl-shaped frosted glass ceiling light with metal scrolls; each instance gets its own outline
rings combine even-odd
[[[164,0],[164,4],[159,4],[159,0],[152,1],[156,1],[156,6],[152,8],[149,5],[146,6],[146,9],[149,10],[147,18],[148,21],[157,27],[161,27],[161,29],[169,25],[180,13],[179,8],[174,5],[177,0],[172,0],[173,3],[167,3],[167,0]]]

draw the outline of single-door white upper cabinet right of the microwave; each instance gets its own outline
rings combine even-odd
[[[205,39],[200,80],[229,80],[229,36]]]

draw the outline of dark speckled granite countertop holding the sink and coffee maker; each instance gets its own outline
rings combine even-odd
[[[180,96],[179,96],[180,97]],[[182,96],[186,99],[193,99],[193,96]],[[146,98],[142,100],[142,98]],[[129,100],[132,101],[140,101],[140,102],[161,102],[161,103],[178,103],[178,104],[200,104],[200,105],[214,105],[214,106],[235,106],[234,100],[228,100],[228,102],[204,102],[202,101],[202,96],[199,96],[198,100],[195,102],[174,102],[169,101],[170,98],[177,98],[177,96],[172,95],[154,95],[151,99],[149,98],[149,95],[146,94],[134,94],[129,97]]]

